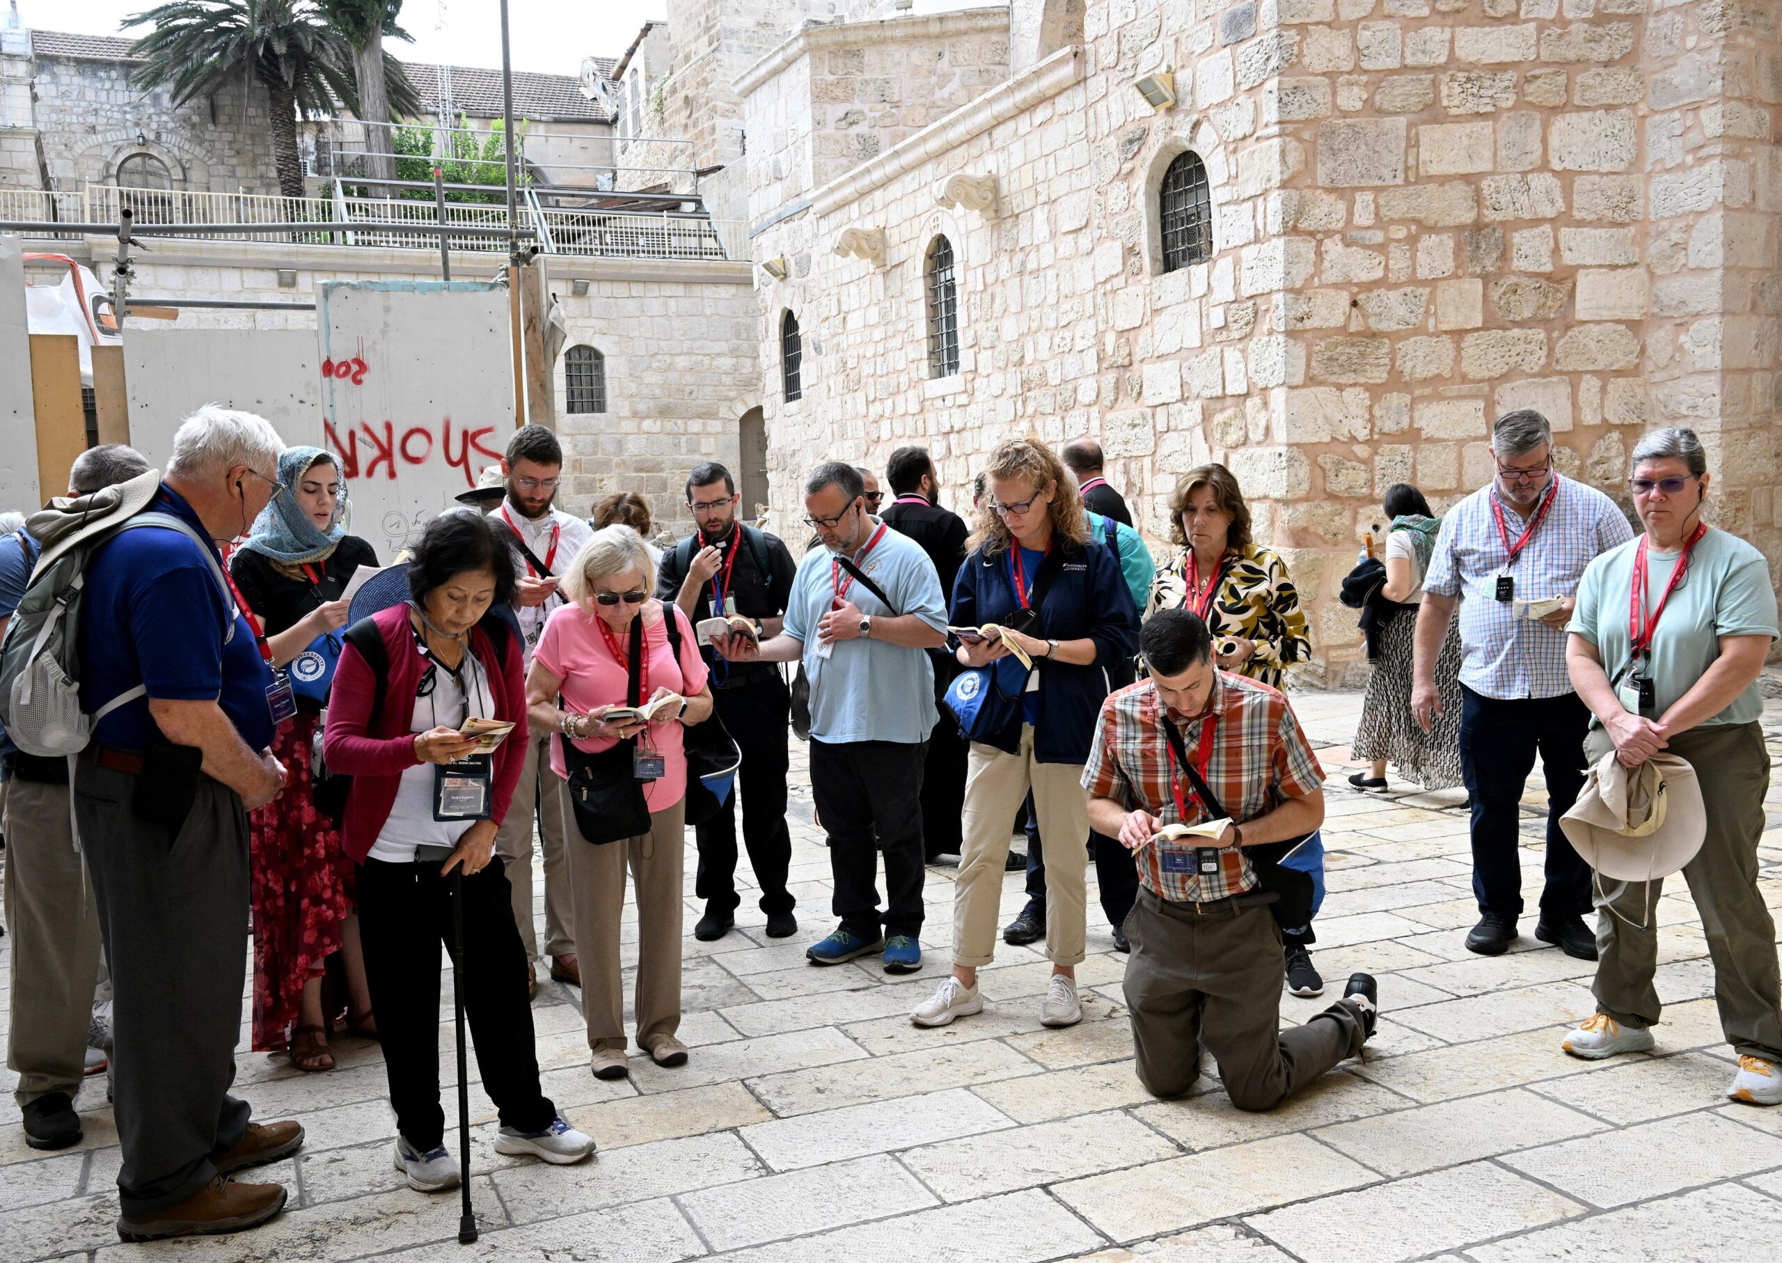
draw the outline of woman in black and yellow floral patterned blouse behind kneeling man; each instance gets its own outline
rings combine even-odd
[[[1201,465],[1169,497],[1169,536],[1181,554],[1157,572],[1153,609],[1192,609],[1214,634],[1219,670],[1279,688],[1312,652],[1306,613],[1287,565],[1249,538],[1244,492],[1224,465]]]

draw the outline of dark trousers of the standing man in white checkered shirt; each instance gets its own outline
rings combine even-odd
[[[1459,770],[1472,794],[1472,892],[1479,912],[1522,916],[1522,787],[1540,754],[1547,777],[1541,916],[1590,916],[1590,866],[1559,818],[1584,787],[1590,709],[1577,693],[1502,702],[1461,684]]]

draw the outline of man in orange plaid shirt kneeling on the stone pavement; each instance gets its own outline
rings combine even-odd
[[[1344,998],[1279,1030],[1281,935],[1244,846],[1283,843],[1324,821],[1324,770],[1278,689],[1214,668],[1194,613],[1160,609],[1139,632],[1151,679],[1101,704],[1083,766],[1089,825],[1139,864],[1126,917],[1126,1006],[1139,1081],[1181,1096],[1201,1072],[1201,1044],[1231,1104],[1272,1110],[1356,1056],[1374,1033],[1377,989],[1354,974]],[[1230,821],[1219,837],[1167,841],[1176,821],[1214,819],[1171,752],[1167,729]]]

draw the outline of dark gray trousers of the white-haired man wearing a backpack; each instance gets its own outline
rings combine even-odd
[[[123,1213],[146,1215],[216,1179],[212,1154],[248,1131],[235,1081],[248,964],[248,816],[200,777],[178,832],[130,811],[135,777],[75,762],[75,825],[112,973],[112,1110]]]

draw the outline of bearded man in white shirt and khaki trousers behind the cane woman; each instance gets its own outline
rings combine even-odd
[[[563,447],[544,426],[522,426],[508,440],[508,454],[501,461],[508,476],[508,495],[490,511],[513,542],[513,568],[519,572],[515,613],[526,668],[531,670],[533,650],[544,632],[545,618],[563,604],[558,579],[581,545],[593,536],[593,527],[579,517],[552,508],[563,481]],[[533,926],[533,818],[545,852],[545,951],[551,953],[551,976],[558,982],[581,985],[581,966],[576,960],[576,925],[568,901],[568,871],[563,860],[563,802],[560,780],[551,770],[551,734],[533,730],[526,745],[526,764],[520,784],[513,789],[513,805],[495,835],[495,853],[501,855],[513,891],[513,921],[526,944],[527,989],[536,990],[538,932]]]

